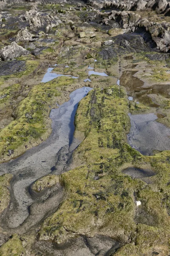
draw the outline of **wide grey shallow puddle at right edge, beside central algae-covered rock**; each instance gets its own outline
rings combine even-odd
[[[153,155],[154,151],[170,150],[170,128],[156,121],[160,118],[154,113],[132,115],[128,143],[144,155]]]

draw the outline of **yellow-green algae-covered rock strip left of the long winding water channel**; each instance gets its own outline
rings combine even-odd
[[[56,107],[59,87],[73,84],[74,79],[61,77],[34,86],[15,110],[16,119],[0,131],[1,161],[16,157],[30,147],[31,141],[42,140],[51,132],[49,111]],[[12,150],[12,156],[8,154]]]

